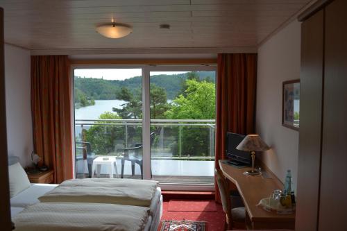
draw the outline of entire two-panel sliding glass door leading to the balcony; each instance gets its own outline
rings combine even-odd
[[[214,67],[73,71],[76,178],[213,185]]]

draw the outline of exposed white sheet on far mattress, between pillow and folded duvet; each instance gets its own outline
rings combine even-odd
[[[31,184],[31,187],[28,187],[28,189],[21,191],[19,194],[11,198],[11,207],[26,207],[28,205],[33,205],[39,202],[37,198],[43,196],[57,186],[58,185]]]

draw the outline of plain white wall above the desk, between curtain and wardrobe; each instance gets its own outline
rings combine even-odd
[[[300,78],[301,24],[292,22],[258,49],[256,130],[271,149],[262,161],[285,180],[291,169],[296,189],[298,131],[282,126],[282,82]]]

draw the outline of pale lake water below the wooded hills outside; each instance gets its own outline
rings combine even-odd
[[[112,108],[122,108],[121,105],[126,101],[97,100],[95,105],[79,108],[75,110],[75,119],[99,119],[103,112],[113,112]]]

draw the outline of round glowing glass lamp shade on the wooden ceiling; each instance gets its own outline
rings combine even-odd
[[[96,26],[96,31],[109,38],[120,38],[133,32],[133,28],[127,24],[110,23]]]

